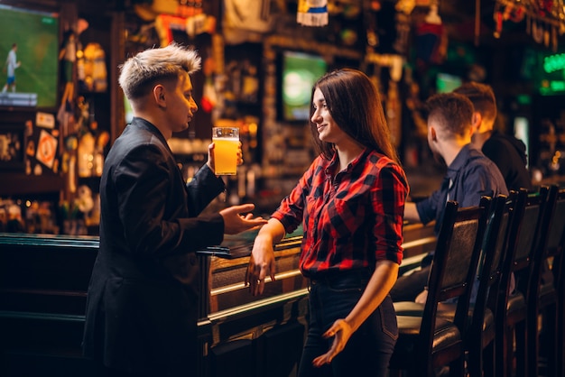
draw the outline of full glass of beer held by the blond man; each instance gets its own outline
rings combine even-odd
[[[218,175],[235,175],[237,172],[237,150],[239,128],[212,127],[214,143],[214,168]]]

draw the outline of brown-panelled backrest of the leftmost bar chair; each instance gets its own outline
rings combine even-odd
[[[486,205],[485,200],[481,201]],[[457,299],[453,322],[461,334],[461,344],[468,330],[468,307],[476,278],[483,236],[486,229],[486,207],[462,207],[446,203],[438,242],[428,279],[428,299],[421,320],[422,357],[430,357],[438,304]]]

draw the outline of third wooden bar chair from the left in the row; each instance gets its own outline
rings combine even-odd
[[[533,252],[538,240],[545,236],[542,223],[548,192],[547,187],[542,187],[536,193],[529,194],[521,189],[516,194],[496,309],[497,377],[510,377],[514,370],[517,377],[523,377],[529,371],[528,282],[533,268]]]

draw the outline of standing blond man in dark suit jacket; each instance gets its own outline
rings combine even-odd
[[[88,288],[84,352],[105,376],[196,376],[196,251],[266,221],[251,204],[201,214],[224,189],[208,162],[190,184],[169,149],[198,106],[195,51],[171,44],[125,61],[119,84],[134,119],[107,155],[100,181],[100,249]],[[241,162],[241,151],[234,158]]]

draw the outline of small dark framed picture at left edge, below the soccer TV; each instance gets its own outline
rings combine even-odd
[[[0,125],[0,170],[25,169],[25,125]]]

